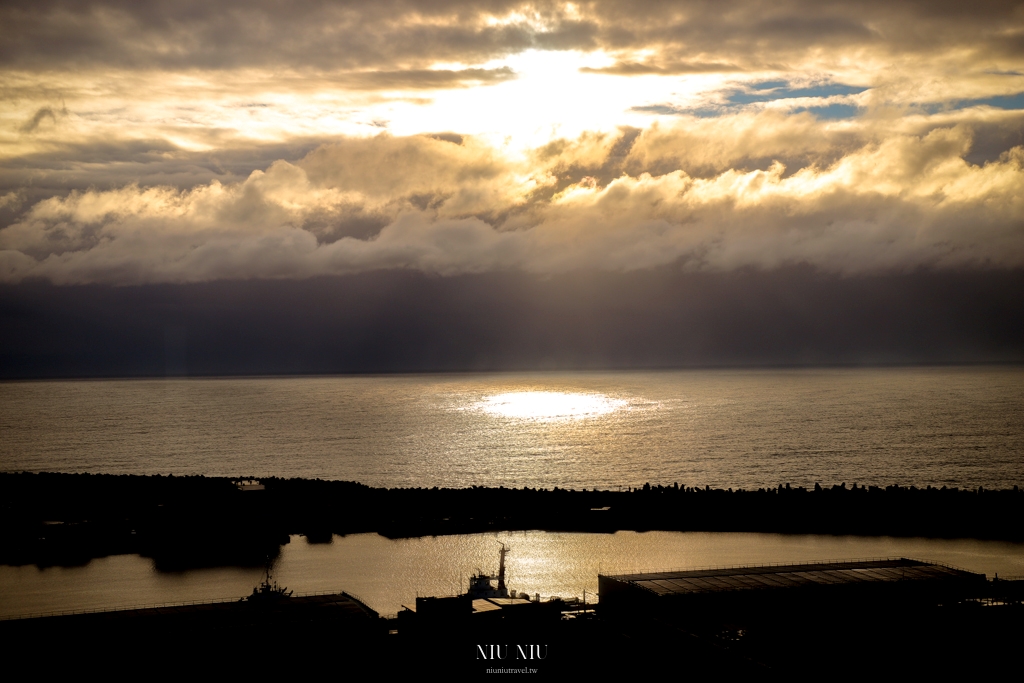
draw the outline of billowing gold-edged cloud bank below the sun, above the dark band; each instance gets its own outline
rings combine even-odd
[[[603,184],[572,174],[607,170],[628,132],[549,145],[529,159],[472,139],[381,135],[276,162],[238,183],[130,185],[39,202],[0,231],[0,274],[138,284],[676,261],[839,272],[1024,265],[1024,147],[976,165],[964,159],[972,144],[964,123],[881,137],[810,115],[720,124],[699,139],[726,166],[773,147],[809,163],[691,175],[683,169],[711,164],[690,146],[699,120],[633,136],[617,161],[631,172]],[[744,129],[757,130],[753,140],[735,134]],[[806,143],[790,144],[794,136]],[[643,170],[667,159],[677,170]]]

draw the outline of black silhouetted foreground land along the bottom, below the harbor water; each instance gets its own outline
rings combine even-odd
[[[0,621],[0,639],[12,663],[51,676],[216,672],[261,679],[461,680],[467,674],[541,673],[600,680],[651,674],[774,680],[884,671],[973,679],[1015,666],[1024,636],[1020,582],[989,582],[963,571],[936,581],[920,572],[941,573],[942,567],[911,560],[876,564],[890,571],[915,568],[918,581],[908,573],[906,581],[822,580],[795,588],[719,586],[693,595],[654,595],[644,584],[662,581],[660,574],[611,577],[601,578],[602,586],[611,581],[621,588],[614,599],[608,588],[607,604],[602,596],[596,608],[522,601],[480,609],[480,601],[460,596],[418,600],[417,611],[391,618],[345,594],[259,598],[254,591],[253,599],[230,603]],[[837,566],[767,571],[823,572],[827,579]],[[707,572],[682,573],[693,582]],[[426,609],[431,601],[435,608]]]

